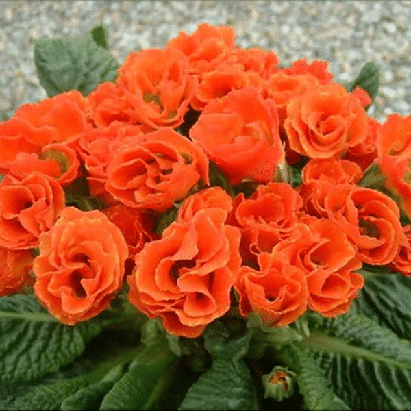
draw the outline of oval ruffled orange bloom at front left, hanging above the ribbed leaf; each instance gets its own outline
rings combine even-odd
[[[64,324],[91,319],[108,308],[121,288],[127,254],[120,229],[104,214],[65,208],[40,236],[34,292]]]

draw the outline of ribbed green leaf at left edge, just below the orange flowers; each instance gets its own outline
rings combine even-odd
[[[0,382],[29,381],[69,364],[101,332],[96,321],[73,327],[50,316],[34,295],[0,298]]]

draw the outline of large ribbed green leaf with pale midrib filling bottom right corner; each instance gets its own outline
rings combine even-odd
[[[310,349],[345,403],[353,409],[411,409],[411,345],[355,307],[326,319],[322,328],[295,345]]]

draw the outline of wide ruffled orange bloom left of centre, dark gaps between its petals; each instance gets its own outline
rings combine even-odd
[[[200,147],[162,128],[127,140],[114,152],[105,189],[126,206],[166,211],[201,179],[208,182],[208,158]]]

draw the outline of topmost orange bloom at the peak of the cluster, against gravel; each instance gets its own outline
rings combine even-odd
[[[190,61],[190,72],[199,74],[211,71],[225,60],[234,42],[235,34],[231,27],[201,23],[190,35],[179,32],[166,44],[166,49],[182,51]]]

